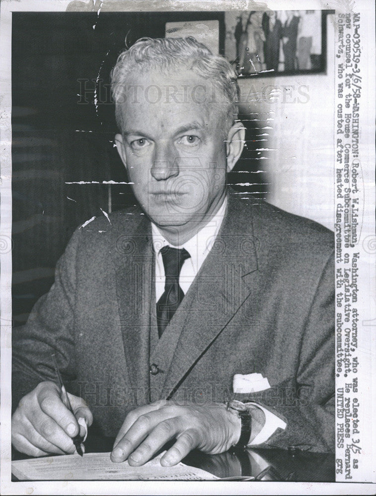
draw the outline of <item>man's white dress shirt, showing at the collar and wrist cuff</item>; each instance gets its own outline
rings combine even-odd
[[[169,245],[173,248],[185,248],[191,255],[187,258],[181,267],[179,276],[179,285],[186,294],[190,285],[192,284],[196,274],[200,270],[205,258],[213,247],[217,238],[219,230],[221,229],[222,222],[226,215],[227,197],[225,197],[220,209],[216,215],[195,235],[183,245],[174,246],[168,243],[161,235],[155,224],[151,223],[152,242],[155,253],[155,296],[156,302],[164,292],[164,265],[160,248]],[[286,423],[272,412],[258,405],[257,403],[247,403],[255,405],[260,408],[265,414],[265,424],[259,434],[253,439],[249,445],[261,444],[277,430],[277,428],[285,429]]]

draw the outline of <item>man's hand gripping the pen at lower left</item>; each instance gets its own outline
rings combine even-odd
[[[90,426],[93,416],[82,398],[68,396],[75,415],[62,402],[54,382],[40,382],[26,394],[12,416],[15,449],[30,456],[75,453],[72,437],[85,434],[77,419],[83,417]]]

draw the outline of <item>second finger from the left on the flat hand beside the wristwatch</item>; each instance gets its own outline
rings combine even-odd
[[[139,466],[146,463],[167,441],[175,437],[179,429],[181,429],[181,422],[178,417],[160,422],[139,447],[130,454],[129,464]]]

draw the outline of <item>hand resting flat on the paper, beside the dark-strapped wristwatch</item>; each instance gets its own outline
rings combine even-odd
[[[146,463],[166,442],[175,443],[162,456],[161,465],[176,465],[192,449],[222,453],[240,437],[241,421],[225,404],[198,406],[160,400],[130,412],[114,443],[113,462],[128,459],[132,466]]]

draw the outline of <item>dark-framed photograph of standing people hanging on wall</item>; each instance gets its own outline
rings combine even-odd
[[[326,10],[226,12],[225,56],[240,76],[326,70]]]

